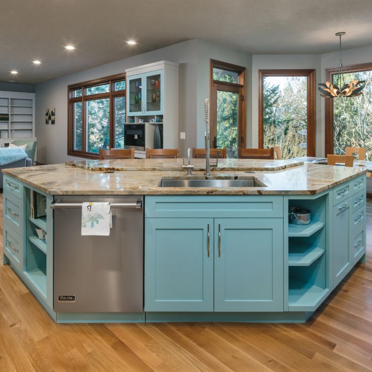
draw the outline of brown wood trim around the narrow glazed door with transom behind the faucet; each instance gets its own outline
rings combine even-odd
[[[229,83],[227,81],[219,81],[219,80],[213,80],[213,67],[220,67],[225,70],[239,72],[239,83]],[[209,87],[209,96],[210,96],[210,117],[216,118],[217,117],[217,107],[214,104],[214,84],[221,84],[221,85],[230,85],[230,86],[239,86],[243,89],[243,105],[241,110],[241,131],[243,136],[243,141],[238,140],[238,148],[239,147],[246,147],[247,145],[247,104],[246,104],[246,97],[247,97],[247,69],[242,66],[233,65],[232,63],[217,61],[217,60],[210,60],[210,87]],[[213,145],[213,138],[211,136],[210,138],[210,146]]]

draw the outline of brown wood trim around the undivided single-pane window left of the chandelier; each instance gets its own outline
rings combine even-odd
[[[315,156],[315,70],[280,69],[258,70],[258,147],[263,148],[263,78],[265,76],[306,76],[307,77],[307,156]]]

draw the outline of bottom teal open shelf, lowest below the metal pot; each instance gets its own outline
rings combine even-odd
[[[289,288],[289,310],[291,306],[316,307],[324,296],[327,296],[328,288],[321,288],[314,284],[301,281],[290,281]]]

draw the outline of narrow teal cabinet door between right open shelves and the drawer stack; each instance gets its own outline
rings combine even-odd
[[[333,207],[333,286],[336,287],[351,269],[349,244],[351,198]]]

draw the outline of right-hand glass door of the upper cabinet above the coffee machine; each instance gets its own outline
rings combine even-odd
[[[154,71],[146,74],[146,112],[162,114],[163,112],[163,73]]]

